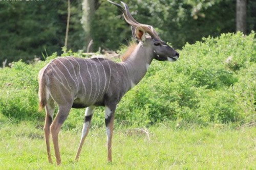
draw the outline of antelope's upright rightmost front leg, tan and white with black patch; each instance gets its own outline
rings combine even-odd
[[[108,162],[112,162],[112,136],[113,136],[113,123],[114,123],[114,107],[105,106],[105,125],[106,125],[106,142],[108,144]]]

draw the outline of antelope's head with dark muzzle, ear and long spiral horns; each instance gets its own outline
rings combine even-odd
[[[108,0],[109,1],[109,0]],[[179,53],[176,52],[171,46],[165,43],[158,36],[155,29],[150,25],[145,25],[137,22],[131,15],[128,6],[121,2],[124,8],[112,1],[109,1],[111,4],[117,6],[123,13],[124,19],[127,23],[132,26],[133,36],[143,45],[150,45],[154,59],[159,61],[171,61],[174,62],[179,58]],[[146,33],[149,35],[146,35]]]

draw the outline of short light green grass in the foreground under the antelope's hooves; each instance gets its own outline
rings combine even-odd
[[[0,169],[256,169],[255,127],[116,127],[112,163],[106,162],[103,127],[90,131],[79,162],[73,159],[80,129],[62,130],[60,166],[48,163],[41,128],[0,122],[0,136]]]

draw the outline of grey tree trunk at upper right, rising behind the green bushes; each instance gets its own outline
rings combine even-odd
[[[237,0],[236,30],[246,34],[246,0]]]

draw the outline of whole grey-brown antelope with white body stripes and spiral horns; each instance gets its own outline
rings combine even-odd
[[[179,58],[179,53],[162,41],[152,26],[141,24],[132,17],[125,3],[121,2],[122,7],[109,2],[122,11],[125,21],[131,25],[132,34],[139,43],[132,45],[124,55],[123,61],[119,63],[103,58],[58,57],[39,71],[39,110],[45,108],[46,111],[44,132],[49,163],[52,163],[50,133],[56,164],[60,164],[58,133],[61,125],[71,108],[86,108],[81,139],[75,156],[75,160],[78,161],[97,106],[105,107],[107,160],[111,162],[114,114],[122,96],[140,82],[153,59],[174,62]],[[55,104],[58,112],[53,120]]]

